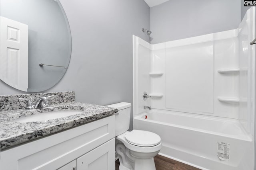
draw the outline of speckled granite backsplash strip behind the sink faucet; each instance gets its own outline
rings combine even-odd
[[[19,94],[10,96],[0,96],[0,111],[24,109],[26,108],[26,101],[19,100],[19,98],[32,99],[36,102],[42,96],[52,96],[48,98],[50,105],[60,104],[75,101],[75,92],[54,92],[54,93],[35,93],[35,94]]]

